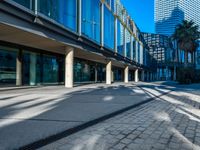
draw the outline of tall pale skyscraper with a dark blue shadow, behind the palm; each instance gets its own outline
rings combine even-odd
[[[157,34],[173,34],[182,20],[200,25],[200,0],[155,0],[154,21]]]

